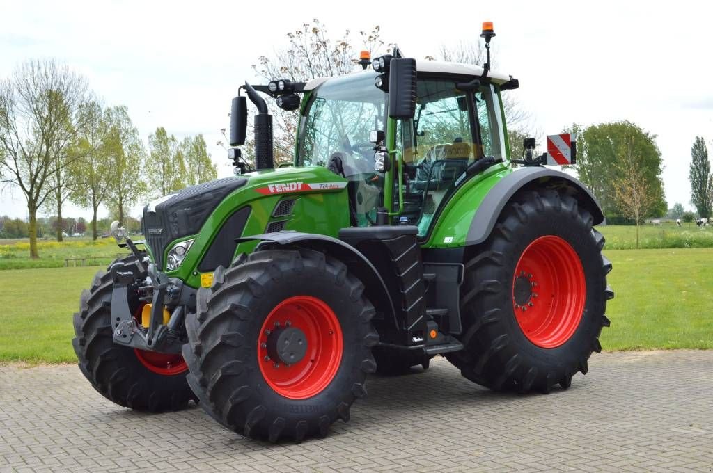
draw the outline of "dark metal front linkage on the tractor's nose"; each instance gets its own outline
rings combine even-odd
[[[111,294],[114,343],[158,353],[180,353],[185,343],[182,333],[186,306],[195,307],[196,290],[159,271],[155,264],[144,259],[130,239],[126,244],[137,260],[118,261],[109,270],[114,283]],[[132,309],[142,306],[141,302],[150,304],[148,327],[138,323],[140,313]],[[165,308],[173,308],[168,323],[164,320]]]

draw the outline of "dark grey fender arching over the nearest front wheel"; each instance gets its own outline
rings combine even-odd
[[[364,294],[369,301],[374,304],[377,313],[383,313],[384,319],[391,319],[396,329],[399,328],[399,323],[396,320],[396,311],[394,309],[394,301],[391,299],[391,294],[386,288],[384,279],[376,270],[369,259],[366,259],[361,251],[354,246],[345,243],[342,240],[314,233],[304,232],[275,232],[259,235],[251,235],[250,237],[238,238],[235,241],[242,243],[244,241],[259,240],[260,243],[255,247],[255,251],[265,249],[265,246],[279,245],[292,246],[316,251],[324,251],[330,256],[342,261],[347,265],[349,272],[359,278],[362,283],[369,281],[369,284],[364,284]]]

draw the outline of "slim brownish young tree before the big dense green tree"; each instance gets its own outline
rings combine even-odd
[[[615,200],[624,217],[636,222],[636,248],[639,248],[639,227],[657,204],[654,185],[646,179],[645,160],[637,137],[629,130],[617,145],[617,178],[614,180]]]

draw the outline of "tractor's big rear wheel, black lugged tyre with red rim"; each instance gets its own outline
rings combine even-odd
[[[549,393],[586,374],[609,326],[604,237],[576,199],[538,189],[515,197],[471,253],[461,286],[464,349],[447,358],[494,390]]]

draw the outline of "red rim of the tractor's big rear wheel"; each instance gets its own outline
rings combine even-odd
[[[525,248],[513,276],[513,310],[532,343],[555,348],[568,341],[582,320],[586,295],[582,262],[567,241],[548,235]]]

